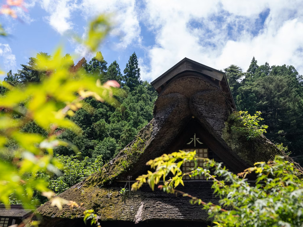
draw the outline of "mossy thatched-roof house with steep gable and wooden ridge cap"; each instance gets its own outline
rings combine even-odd
[[[264,136],[248,141],[232,132],[234,122],[229,116],[236,107],[224,72],[184,58],[151,84],[159,93],[153,119],[101,172],[58,196],[94,209],[103,227],[210,225],[207,213],[186,197],[157,188],[152,191],[149,186],[125,193],[121,188],[129,190],[136,177],[149,170],[145,163],[164,153],[196,150],[199,156],[223,162],[235,173],[283,153]],[[184,182],[181,191],[205,202],[218,202],[211,182],[203,177],[188,177]],[[36,212],[43,217],[41,227],[84,226],[79,208],[59,210],[47,202]]]

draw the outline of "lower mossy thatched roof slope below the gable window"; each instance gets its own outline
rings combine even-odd
[[[151,191],[148,186],[143,186],[136,193],[130,192],[125,195],[120,194],[121,187],[125,183],[117,183],[114,186],[94,187],[88,186],[86,182],[81,182],[66,190],[59,196],[65,199],[73,199],[85,209],[94,209],[101,221],[128,221],[132,223],[146,222],[150,220],[187,220],[205,222],[208,218],[207,212],[201,206],[191,205],[187,197],[175,196],[161,192],[159,189]],[[203,201],[218,202],[218,198],[213,195],[211,183],[205,180],[196,181],[182,187],[182,190],[191,193]],[[70,220],[81,220],[83,209],[68,206],[59,210],[50,206],[50,202],[45,203],[37,212],[42,214],[47,221],[41,223],[43,226],[54,226],[60,221],[61,225],[68,224]],[[64,226],[65,226],[64,225]],[[102,224],[102,226],[104,226]]]

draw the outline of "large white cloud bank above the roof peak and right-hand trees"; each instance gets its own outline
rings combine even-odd
[[[217,69],[237,64],[292,64],[303,73],[301,1],[146,1],[145,26],[155,45],[141,60],[142,79],[157,78],[187,57]],[[264,25],[259,18],[269,12]],[[149,63],[149,64],[148,64]]]

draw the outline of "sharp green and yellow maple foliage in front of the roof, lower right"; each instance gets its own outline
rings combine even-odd
[[[205,161],[204,168],[197,167],[197,161],[201,159]],[[189,173],[182,173],[180,167],[190,161],[194,161],[196,167]],[[195,151],[164,154],[150,160],[147,165],[155,172],[148,171],[139,176],[132,190],[139,189],[146,182],[154,189],[163,179],[159,189],[181,193],[191,198],[191,203],[202,205],[213,218],[214,226],[302,226],[303,181],[298,177],[302,173],[281,156],[268,163],[255,163],[254,167],[237,175],[225,169],[222,163],[196,156]],[[172,173],[173,177],[165,179],[168,173]],[[255,184],[245,179],[250,173],[257,175]],[[184,185],[185,175],[205,175],[212,180],[214,193],[220,198],[219,204],[204,202],[180,191],[180,187],[176,189],[179,184]],[[218,180],[218,177],[223,180]]]

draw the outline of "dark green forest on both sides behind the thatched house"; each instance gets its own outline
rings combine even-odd
[[[36,57],[29,58],[27,64],[22,64],[16,74],[9,71],[4,80],[17,87],[28,83],[40,83],[48,75],[47,70],[37,70],[36,65],[40,56],[52,58],[51,55],[40,52]],[[116,108],[93,97],[85,99],[83,108],[70,116],[70,119],[82,129],[82,133],[58,129],[59,138],[75,145],[77,149],[73,146],[55,148],[54,152],[64,166],[62,176],[39,173],[39,176],[48,179],[49,188],[55,193],[65,191],[97,171],[127,146],[138,131],[152,119],[153,105],[158,95],[148,81],[140,80],[140,68],[135,52],[130,56],[123,73],[117,61],[108,65],[101,52],[97,52],[90,61],[82,58],[77,64],[72,62],[69,54],[64,58],[71,61],[70,71],[82,68],[86,73],[98,77],[101,83],[108,80],[117,81],[122,89],[115,94],[115,99],[119,102]],[[261,117],[264,118],[262,124],[269,126],[265,136],[302,164],[302,76],[293,66],[269,66],[268,63],[259,66],[255,58],[246,72],[236,65],[231,65],[224,71],[237,110],[248,111],[250,114],[261,111]],[[4,95],[6,90],[7,88],[0,87],[1,95]],[[16,118],[18,117],[20,116],[16,115]],[[47,135],[47,132],[33,121],[22,127],[22,131]],[[7,146],[14,149],[16,144],[10,141]],[[19,201],[12,196],[11,203]]]

